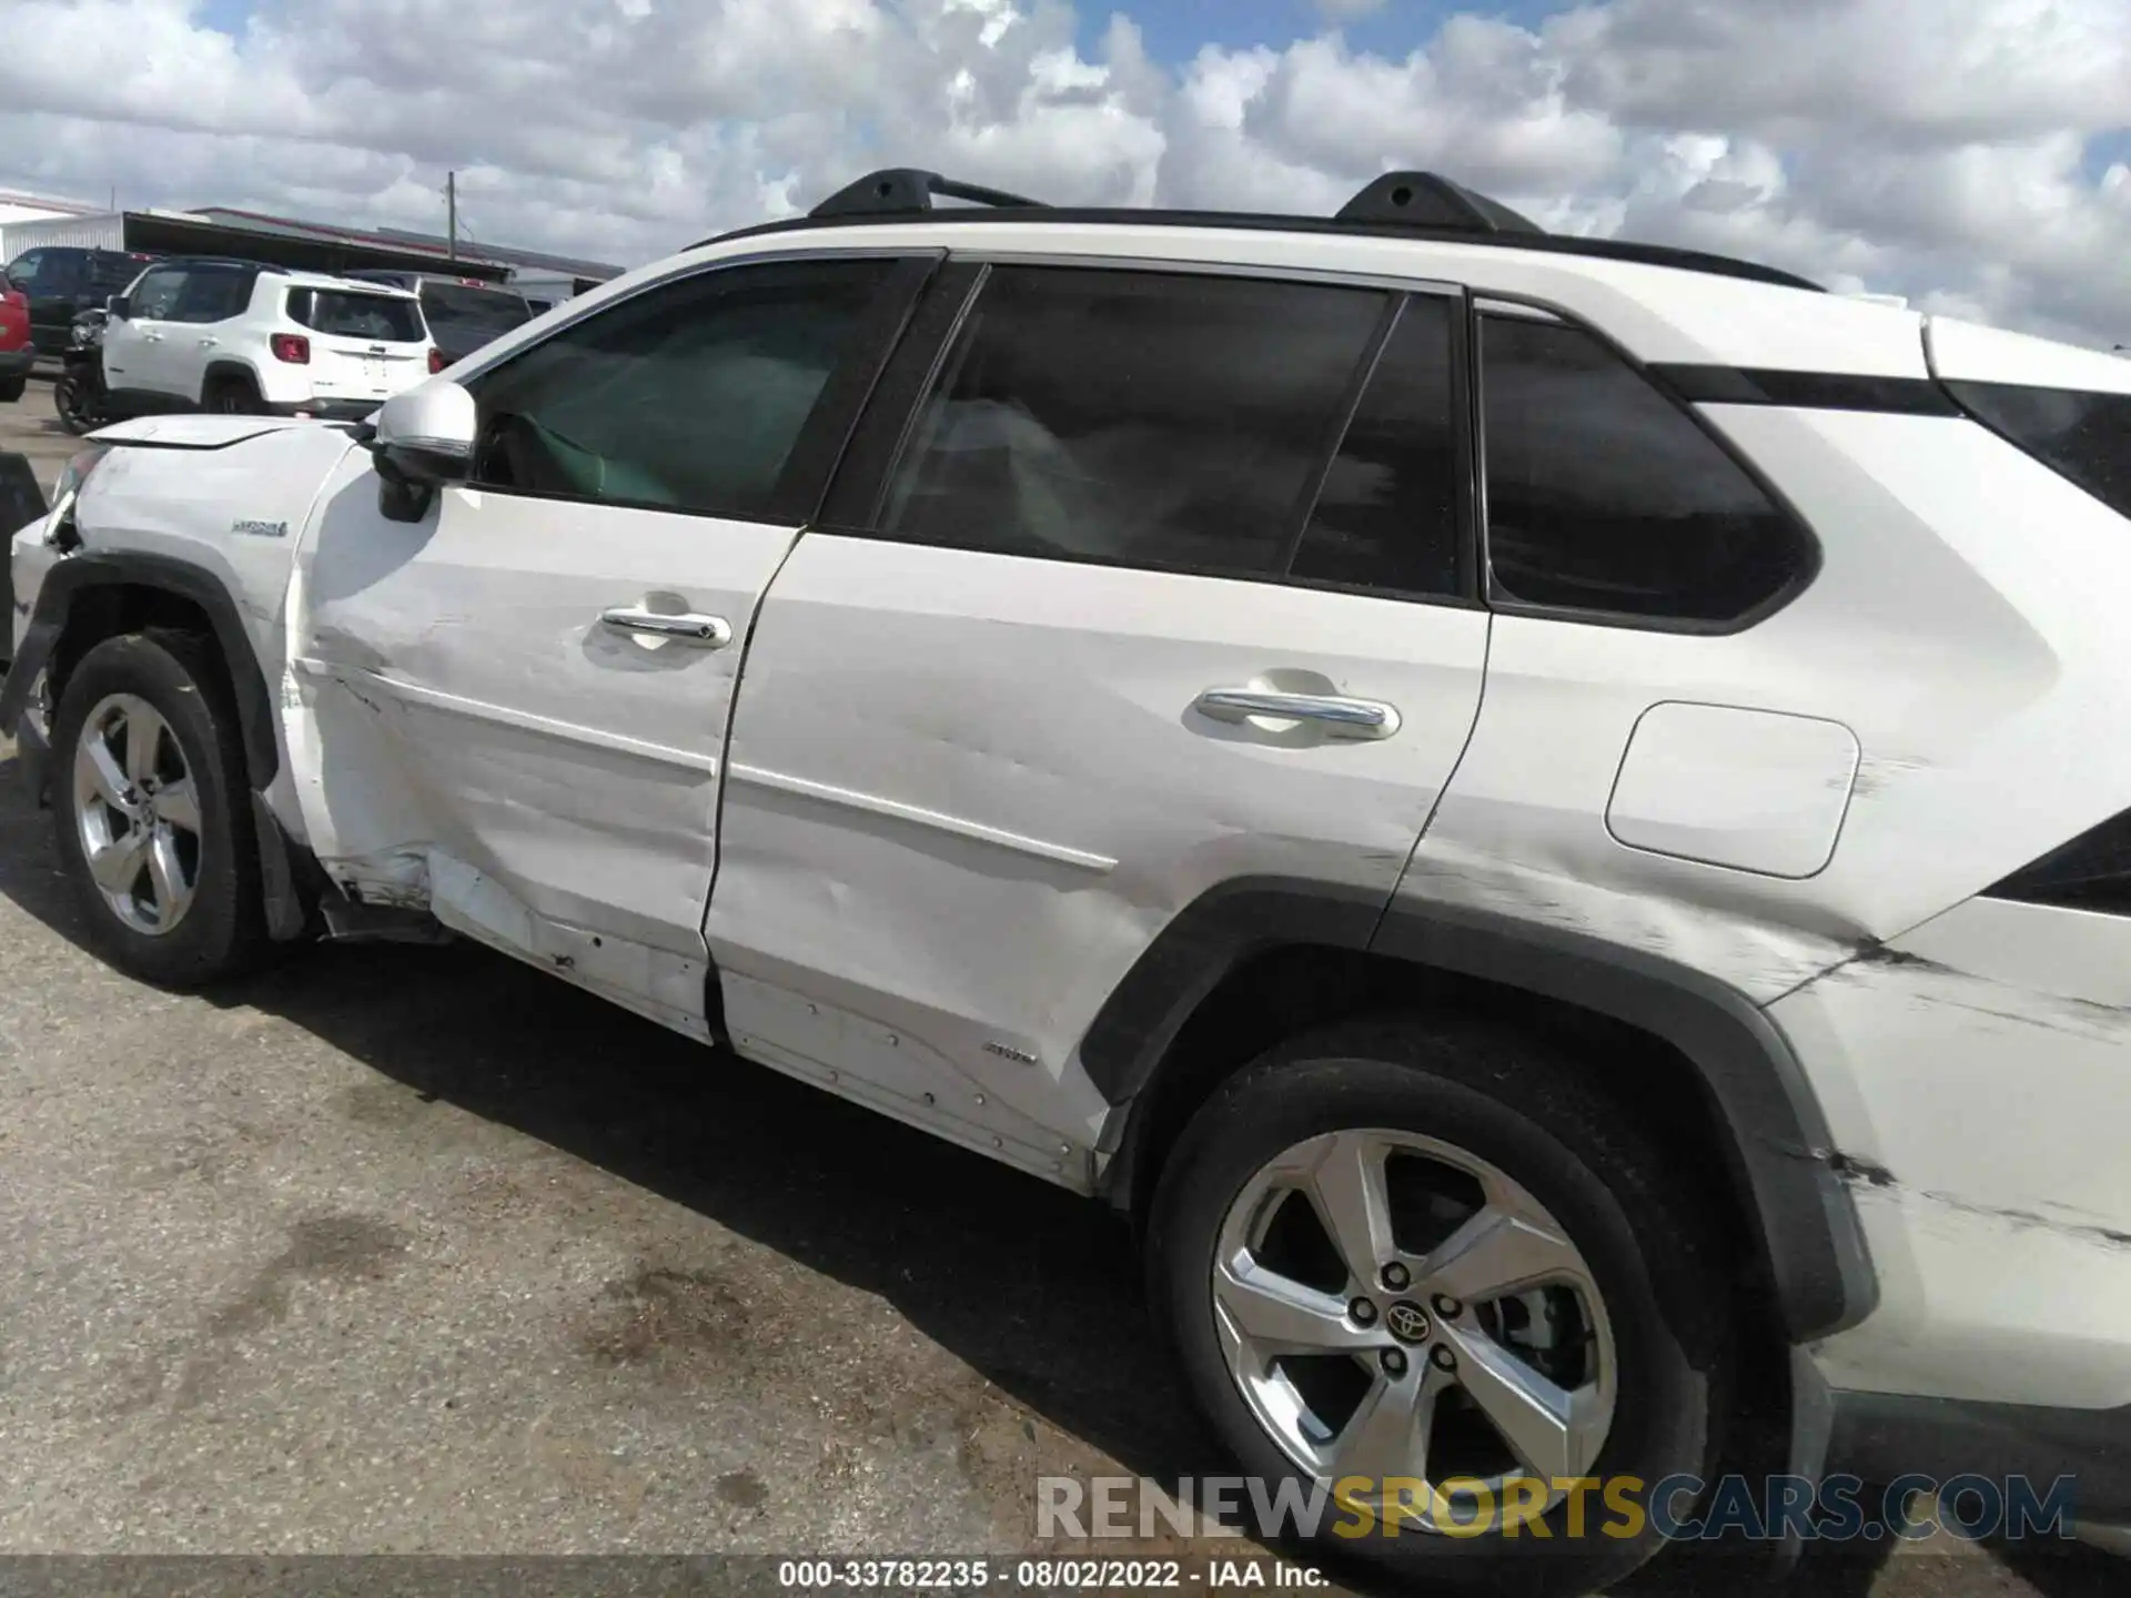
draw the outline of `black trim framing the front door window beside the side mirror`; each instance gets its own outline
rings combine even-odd
[[[816,398],[812,413],[793,439],[791,458],[784,462],[784,477],[795,482],[812,482],[814,492],[808,496],[803,513],[797,516],[733,516],[729,511],[710,511],[695,505],[663,505],[641,499],[616,499],[601,494],[535,494],[522,488],[497,488],[488,484],[471,484],[484,494],[494,494],[499,499],[524,499],[543,501],[554,505],[590,505],[595,509],[616,509],[616,511],[658,511],[665,516],[690,516],[703,522],[742,522],[748,526],[782,526],[782,528],[806,528],[812,526],[814,518],[820,513],[823,501],[829,494],[831,484],[842,467],[844,452],[850,447],[852,433],[857,430],[865,407],[872,401],[874,388],[880,384],[882,373],[893,360],[897,347],[904,341],[904,332],[910,326],[914,307],[925,294],[925,286],[938,275],[940,264],[946,260],[946,251],[931,245],[912,247],[867,247],[867,249],[778,249],[759,256],[729,256],[712,262],[695,262],[684,271],[665,273],[652,281],[639,283],[627,294],[616,294],[603,298],[597,305],[584,307],[582,315],[573,315],[556,328],[548,328],[539,339],[514,345],[501,352],[494,360],[469,371],[460,386],[473,386],[486,381],[505,366],[531,356],[535,349],[546,347],[552,339],[563,337],[571,328],[584,326],[592,317],[616,311],[624,305],[641,300],[646,294],[658,294],[684,283],[695,283],[697,279],[712,277],[729,271],[744,271],[752,266],[810,266],[829,264],[846,260],[880,260],[889,264],[886,275],[880,283],[880,298],[869,307],[867,317],[872,326],[861,324],[861,332],[874,341],[872,360],[852,362],[848,373],[842,373],[848,392],[837,392],[837,375],[831,375],[829,384],[823,386],[820,398]],[[524,326],[524,324],[520,324]],[[782,486],[782,484],[780,484]]]

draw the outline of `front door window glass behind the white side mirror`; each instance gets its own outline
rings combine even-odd
[[[475,479],[786,520],[786,462],[893,262],[735,266],[575,322],[473,384]]]

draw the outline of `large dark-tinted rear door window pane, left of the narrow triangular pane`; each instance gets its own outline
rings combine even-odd
[[[1285,571],[1385,296],[995,266],[891,482],[891,537]]]

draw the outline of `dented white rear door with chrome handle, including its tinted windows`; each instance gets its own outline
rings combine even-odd
[[[750,646],[737,1046],[1057,1176],[1185,906],[1385,903],[1487,654],[1462,339],[1453,290],[950,268]]]

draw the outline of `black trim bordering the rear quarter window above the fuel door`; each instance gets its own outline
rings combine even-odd
[[[1711,439],[1726,458],[1747,475],[1747,479],[1769,499],[1769,505],[1784,518],[1790,528],[1792,543],[1799,552],[1799,567],[1790,582],[1771,592],[1758,605],[1741,612],[1739,616],[1722,622],[1707,622],[1692,616],[1643,616],[1632,612],[1609,612],[1609,609],[1583,609],[1577,605],[1539,605],[1524,599],[1507,597],[1494,582],[1494,558],[1487,550],[1487,428],[1485,428],[1485,352],[1481,339],[1483,320],[1490,315],[1498,317],[1526,317],[1558,322],[1560,326],[1575,328],[1592,339],[1596,339],[1615,360],[1624,362],[1632,373],[1637,373],[1645,384],[1649,384],[1662,398],[1666,398],[1675,411],[1686,415],[1694,426]],[[1824,560],[1824,550],[1820,535],[1813,533],[1813,524],[1805,520],[1790,496],[1775,486],[1769,477],[1733,439],[1720,428],[1709,415],[1703,413],[1679,388],[1666,381],[1662,366],[1656,362],[1641,360],[1632,349],[1628,349],[1620,339],[1609,335],[1605,328],[1596,326],[1583,315],[1556,305],[1553,300],[1539,298],[1534,294],[1513,294],[1494,288],[1473,288],[1466,300],[1466,324],[1470,335],[1466,339],[1466,392],[1470,394],[1473,407],[1473,473],[1475,492],[1479,501],[1479,569],[1481,582],[1487,594],[1487,607],[1496,616],[1530,616],[1534,620],[1547,622],[1581,622],[1585,626],[1617,626],[1630,633],[1679,633],[1688,637],[1735,637],[1754,626],[1760,626],[1777,612],[1786,609],[1799,594],[1813,586],[1820,577],[1820,567]]]

